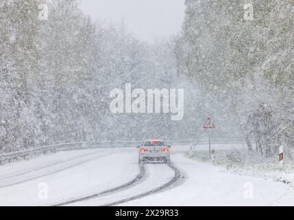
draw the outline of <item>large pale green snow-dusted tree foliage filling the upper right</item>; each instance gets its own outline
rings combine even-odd
[[[269,156],[283,142],[293,143],[289,133],[284,137],[284,131],[293,131],[291,113],[285,114],[293,109],[291,42],[291,1],[186,0],[177,69],[210,96],[217,117],[229,122],[224,131],[233,126],[249,150],[256,140],[260,152]]]

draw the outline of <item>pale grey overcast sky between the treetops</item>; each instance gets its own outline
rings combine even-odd
[[[184,0],[79,0],[79,8],[96,19],[121,21],[138,39],[152,42],[180,32]]]

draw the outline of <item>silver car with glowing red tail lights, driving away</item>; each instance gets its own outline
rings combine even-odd
[[[138,145],[137,148],[139,148],[139,164],[158,161],[163,161],[167,164],[171,163],[171,146],[162,140],[146,140]]]

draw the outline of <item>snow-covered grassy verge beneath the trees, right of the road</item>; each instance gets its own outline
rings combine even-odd
[[[233,144],[227,148],[212,146],[215,148],[215,159],[211,161],[207,148],[207,145],[199,146],[192,152],[186,151],[185,155],[199,162],[220,166],[221,170],[228,173],[271,179],[294,187],[294,163],[289,155],[285,156],[284,165],[280,166],[278,155],[265,158],[256,151],[248,151],[244,146]]]

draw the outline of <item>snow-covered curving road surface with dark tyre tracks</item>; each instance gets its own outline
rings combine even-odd
[[[187,159],[183,151],[186,147],[172,150],[176,168],[145,164],[142,170],[136,148],[67,151],[6,164],[0,166],[0,206],[53,206],[66,202],[69,206],[294,204],[291,186],[223,173],[217,166]]]

